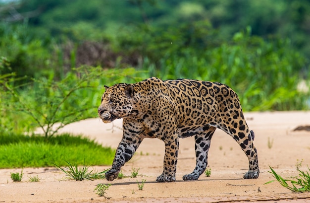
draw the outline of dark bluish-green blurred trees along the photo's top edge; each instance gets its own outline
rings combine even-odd
[[[87,5],[83,0],[20,2],[22,6],[15,7],[22,16],[27,16],[24,12],[40,8],[40,15],[27,19],[33,33],[42,33],[42,36],[52,33],[53,37],[60,39],[99,40],[102,37],[100,33],[115,36],[128,27],[141,24],[167,28],[181,22],[201,20],[216,28],[218,35],[226,40],[251,26],[258,36],[291,38],[304,53],[310,47],[308,0],[89,0]]]

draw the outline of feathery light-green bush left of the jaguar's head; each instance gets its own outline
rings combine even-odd
[[[0,129],[22,133],[40,127],[48,138],[69,123],[96,117],[104,84],[137,80],[133,68],[106,70],[105,74],[102,77],[102,68],[82,67],[60,81],[53,75],[34,79],[23,89],[14,85],[18,78],[3,80],[0,110],[4,117],[0,121],[5,125]]]

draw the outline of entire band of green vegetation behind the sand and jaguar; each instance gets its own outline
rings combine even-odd
[[[150,76],[309,110],[309,39],[310,0],[2,0],[0,130],[97,117],[103,85]]]

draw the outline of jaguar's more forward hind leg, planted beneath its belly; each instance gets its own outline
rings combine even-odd
[[[190,174],[184,175],[183,180],[197,180],[207,167],[207,153],[209,151],[212,135],[216,128],[204,127],[203,133],[195,135],[196,167]]]

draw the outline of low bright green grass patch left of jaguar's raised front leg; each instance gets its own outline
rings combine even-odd
[[[65,160],[83,165],[110,165],[115,150],[82,136],[0,135],[0,168],[67,165]]]

